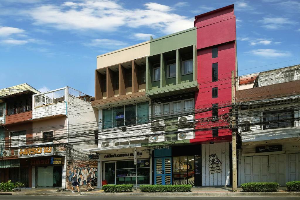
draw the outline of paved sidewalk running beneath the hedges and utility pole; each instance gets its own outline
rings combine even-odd
[[[232,192],[228,187],[200,187],[192,188],[190,193],[142,193],[135,188],[130,193],[105,193],[103,190],[81,192],[85,196],[199,196],[199,197],[230,197],[230,196],[276,196],[276,197],[300,197],[300,192],[286,192],[285,187],[279,188],[278,192]]]

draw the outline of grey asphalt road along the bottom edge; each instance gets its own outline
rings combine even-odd
[[[84,200],[93,200],[93,199],[111,199],[111,200],[139,200],[139,199],[143,199],[143,200],[169,200],[169,199],[174,199],[174,200],[187,200],[187,199],[191,199],[191,200],[241,200],[241,199],[245,199],[245,200],[261,200],[261,199],[270,199],[270,200],[283,200],[283,199],[288,199],[288,200],[299,200],[300,197],[182,197],[182,196],[170,196],[170,197],[160,197],[160,196],[79,196],[79,195],[70,195],[70,196],[58,196],[58,195],[24,195],[24,196],[19,196],[19,195],[0,195],[0,199],[1,200],[6,200],[6,199],[24,199],[24,200],[35,200],[35,199],[43,199],[43,200],[50,200],[50,199],[55,199],[55,200],[73,200],[73,199],[84,199]]]

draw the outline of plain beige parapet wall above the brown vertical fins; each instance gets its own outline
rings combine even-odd
[[[149,41],[97,56],[97,69],[150,55]]]

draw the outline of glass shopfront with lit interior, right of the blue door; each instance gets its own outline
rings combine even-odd
[[[177,156],[173,157],[173,184],[194,185],[195,175],[195,157],[194,156]]]

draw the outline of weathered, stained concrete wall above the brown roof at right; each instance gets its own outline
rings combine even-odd
[[[258,86],[261,87],[296,80],[300,80],[300,65],[260,72],[258,75]]]

